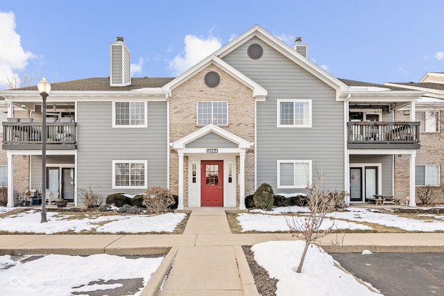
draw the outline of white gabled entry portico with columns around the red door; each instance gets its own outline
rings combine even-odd
[[[178,152],[178,209],[184,209],[185,192],[188,207],[239,202],[245,209],[245,158],[253,145],[214,123],[171,143]]]

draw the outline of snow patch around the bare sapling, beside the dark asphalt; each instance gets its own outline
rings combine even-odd
[[[269,241],[251,248],[255,261],[278,279],[276,295],[380,295],[337,268],[332,256],[314,245],[309,247],[302,273],[296,273],[304,245],[303,241]]]

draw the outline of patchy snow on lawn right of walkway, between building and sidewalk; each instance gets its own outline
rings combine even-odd
[[[326,219],[321,229],[330,227],[332,225],[332,221],[334,221],[334,229],[373,229],[366,225],[359,224],[359,222],[365,222],[385,225],[388,227],[398,227],[407,231],[444,231],[444,216],[441,215],[423,215],[425,217],[424,219],[413,219],[400,217],[395,214],[385,214],[377,209],[348,207],[345,210],[346,211],[336,211],[327,214],[326,217],[332,220]],[[258,232],[280,232],[289,230],[287,220],[285,218],[286,216],[284,214],[298,213],[300,214],[300,221],[303,221],[303,217],[305,214],[309,213],[309,209],[307,207],[277,207],[272,211],[252,210],[250,212],[255,214],[239,214],[237,216],[237,220],[239,221],[239,225],[241,225],[243,232],[250,230],[255,230]],[[439,220],[434,220],[431,218],[437,218]],[[345,222],[338,219],[350,220],[353,222]]]

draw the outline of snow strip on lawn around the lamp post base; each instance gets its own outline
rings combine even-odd
[[[148,215],[92,215],[89,218],[74,218],[73,215],[47,212],[48,223],[40,223],[41,212],[30,210],[0,218],[0,231],[54,234],[57,232],[96,229],[97,232],[173,232],[186,214],[168,213],[157,216]],[[109,223],[99,227],[97,223]]]

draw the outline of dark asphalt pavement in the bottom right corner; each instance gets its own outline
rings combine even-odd
[[[444,295],[444,253],[333,253],[353,275],[386,296]]]

